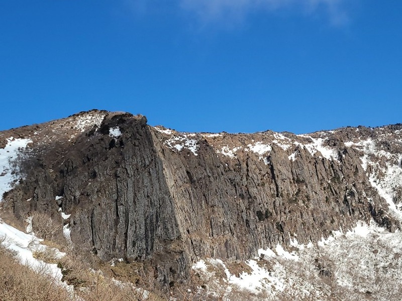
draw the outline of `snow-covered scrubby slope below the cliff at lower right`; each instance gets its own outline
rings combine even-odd
[[[227,300],[398,300],[401,250],[401,232],[361,222],[314,244],[292,240],[290,252],[280,245],[260,250],[240,272],[233,263],[202,259],[192,268],[208,284],[194,294],[220,292]]]

